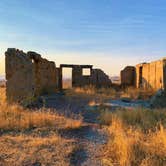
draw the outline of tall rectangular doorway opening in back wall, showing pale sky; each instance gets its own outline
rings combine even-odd
[[[72,68],[62,68],[62,88],[72,88]]]

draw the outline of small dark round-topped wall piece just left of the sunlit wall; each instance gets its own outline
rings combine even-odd
[[[121,73],[121,85],[122,86],[135,86],[136,84],[136,68],[134,66],[125,67]]]

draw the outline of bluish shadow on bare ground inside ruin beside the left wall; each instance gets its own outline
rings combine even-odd
[[[98,112],[86,110],[89,102],[93,100],[90,96],[65,96],[61,94],[54,94],[43,96],[43,106],[46,108],[53,108],[59,114],[66,117],[79,119],[83,118],[83,122],[97,123]]]

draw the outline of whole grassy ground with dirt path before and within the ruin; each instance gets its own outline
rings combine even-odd
[[[152,92],[77,88],[45,97],[40,109],[8,105],[5,88],[0,94],[0,165],[166,165],[165,109],[102,105]]]

